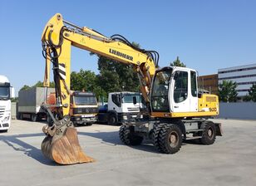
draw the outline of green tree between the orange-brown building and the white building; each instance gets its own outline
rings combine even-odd
[[[219,100],[224,102],[236,102],[238,92],[236,87],[238,85],[233,81],[223,81],[219,84]]]

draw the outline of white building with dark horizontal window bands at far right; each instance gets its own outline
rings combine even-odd
[[[219,69],[218,79],[219,84],[223,81],[236,82],[239,97],[248,95],[250,87],[256,84],[256,63]]]

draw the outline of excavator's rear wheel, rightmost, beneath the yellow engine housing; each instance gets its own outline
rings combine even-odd
[[[214,144],[216,139],[216,126],[211,121],[205,121],[200,125],[200,129],[203,130],[202,138],[199,139],[201,144]]]

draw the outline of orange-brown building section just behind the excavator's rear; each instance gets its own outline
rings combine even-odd
[[[210,94],[218,93],[218,74],[199,76],[199,89],[209,91]]]

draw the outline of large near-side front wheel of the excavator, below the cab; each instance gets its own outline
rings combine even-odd
[[[159,133],[160,151],[165,154],[175,154],[180,150],[182,144],[182,133],[180,128],[174,124],[165,124]]]

